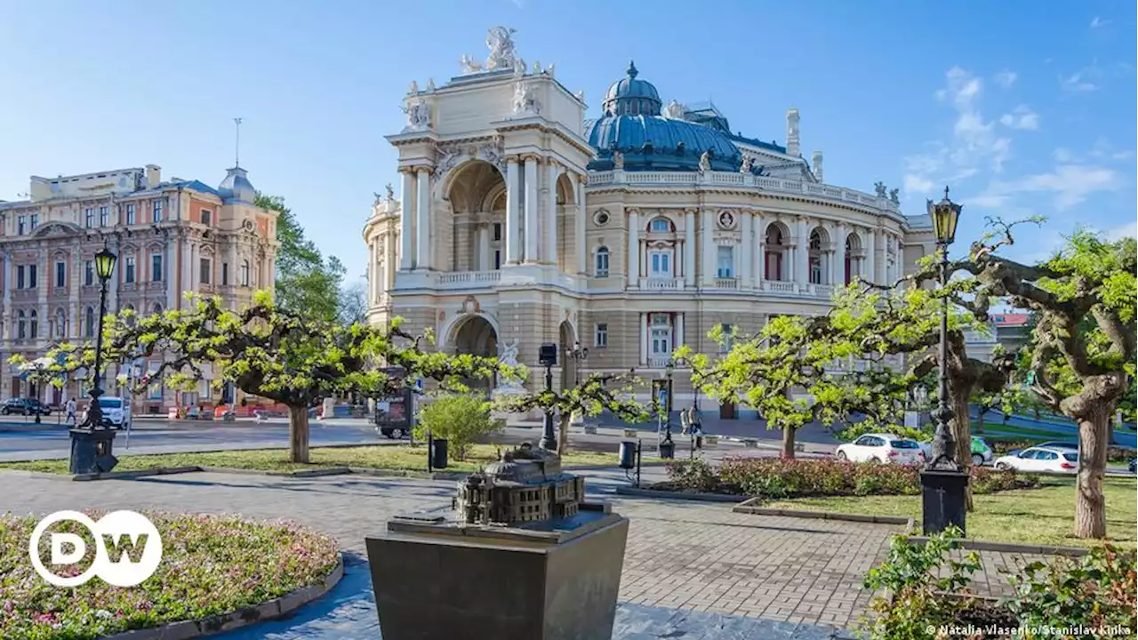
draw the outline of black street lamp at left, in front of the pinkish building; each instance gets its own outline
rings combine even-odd
[[[94,272],[99,277],[99,328],[94,336],[94,374],[91,377],[91,405],[82,425],[71,429],[71,470],[73,474],[109,471],[118,462],[112,453],[115,432],[102,422],[102,326],[107,314],[107,282],[115,271],[118,256],[106,246],[94,254]],[[100,429],[100,427],[102,427]]]

